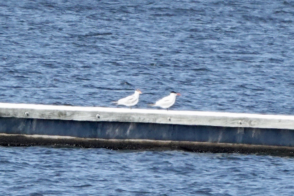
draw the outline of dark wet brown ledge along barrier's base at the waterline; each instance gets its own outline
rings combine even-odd
[[[69,136],[0,134],[1,146],[50,146],[107,148],[113,150],[184,150],[212,153],[258,153],[294,156],[294,147],[227,144],[210,142],[162,141],[150,139],[89,139]]]

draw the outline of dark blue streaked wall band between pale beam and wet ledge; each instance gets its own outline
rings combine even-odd
[[[135,122],[0,118],[0,133],[294,146],[294,131]]]

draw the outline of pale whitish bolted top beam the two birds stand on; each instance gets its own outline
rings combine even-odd
[[[294,116],[0,103],[0,117],[294,129]]]

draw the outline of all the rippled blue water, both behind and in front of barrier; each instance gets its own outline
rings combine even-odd
[[[0,102],[293,114],[294,1],[0,1]],[[122,106],[123,107],[123,106]],[[293,195],[293,159],[0,148],[1,195]]]

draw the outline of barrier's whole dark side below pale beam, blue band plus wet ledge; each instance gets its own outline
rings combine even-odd
[[[101,141],[86,141],[83,139],[50,140],[48,138],[34,139],[23,136],[1,136],[0,145],[3,146],[54,145],[57,142],[57,144],[62,145],[109,147],[111,149],[150,149],[167,147],[170,149],[195,152],[244,153],[272,152],[275,150],[284,151],[285,149],[279,147],[294,146],[294,131],[289,129],[189,126],[154,123],[89,122],[1,117],[0,133],[104,139]],[[116,141],[108,141],[107,139],[116,139]],[[126,139],[154,141],[133,142]],[[163,143],[157,143],[157,140],[173,142],[169,144],[164,143],[163,145]],[[181,143],[181,141],[198,143]],[[248,145],[232,146],[231,144],[254,144],[263,145],[263,147],[249,147]],[[289,149],[286,151],[288,152]],[[290,148],[289,152],[292,151],[293,149]]]

